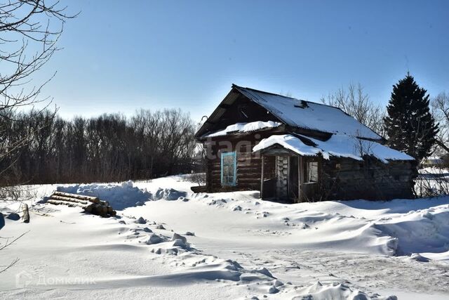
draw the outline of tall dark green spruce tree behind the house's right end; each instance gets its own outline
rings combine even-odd
[[[427,157],[435,143],[438,124],[429,110],[429,94],[410,73],[393,86],[387,114],[384,122],[389,146],[418,162]]]

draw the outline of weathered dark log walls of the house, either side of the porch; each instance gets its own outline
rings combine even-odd
[[[264,133],[269,135],[270,133]],[[251,150],[265,136],[260,133],[247,136],[214,138],[207,159],[206,181],[209,192],[230,190],[260,190],[262,159]],[[239,146],[241,141],[247,143]],[[222,144],[220,142],[226,141]],[[220,151],[236,151],[236,186],[221,184]],[[264,159],[264,178],[276,177],[276,157]],[[303,162],[312,160],[304,157]],[[319,162],[319,182],[309,186],[316,191],[307,200],[368,199],[389,200],[398,197],[413,197],[413,179],[416,176],[415,162],[390,162],[384,164],[368,158],[364,162],[349,158],[314,158]],[[304,176],[304,174],[301,174]],[[305,192],[305,190],[304,190]],[[308,194],[308,193],[307,193]]]

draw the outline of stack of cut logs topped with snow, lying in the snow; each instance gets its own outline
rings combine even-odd
[[[112,209],[111,205],[107,201],[102,201],[98,197],[76,195],[70,193],[62,193],[55,191],[51,195],[47,203],[60,205],[64,204],[69,207],[81,207],[84,211],[96,214],[98,216],[115,216],[116,211]]]

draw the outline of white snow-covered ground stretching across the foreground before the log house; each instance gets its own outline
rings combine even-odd
[[[27,232],[0,252],[2,266],[20,259],[0,273],[0,297],[449,298],[449,197],[279,204],[257,192],[194,194],[193,184],[35,187],[31,222],[0,230]],[[98,195],[119,217],[37,203],[56,188]]]

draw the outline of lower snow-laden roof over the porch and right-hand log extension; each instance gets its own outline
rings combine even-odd
[[[316,156],[319,153],[324,159],[333,157],[349,157],[352,159],[363,160],[363,155],[371,155],[380,159],[382,162],[391,160],[414,160],[410,155],[388,148],[380,143],[362,140],[343,134],[334,134],[328,141],[319,141],[314,138],[302,136],[315,145],[307,145],[300,138],[291,134],[274,135],[264,138],[260,143],[254,146],[253,151],[259,151],[269,148],[272,145],[281,145],[281,147],[291,150],[298,155]]]

